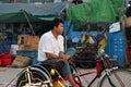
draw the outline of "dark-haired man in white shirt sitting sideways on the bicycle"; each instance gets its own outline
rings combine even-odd
[[[55,63],[58,60],[64,61],[64,66],[61,69],[63,75],[68,78],[70,84],[73,87],[79,87],[71,75],[70,65],[68,60],[70,55],[64,54],[63,47],[63,22],[59,18],[56,18],[52,23],[52,29],[45,33],[39,40],[38,46],[38,61],[46,63]]]

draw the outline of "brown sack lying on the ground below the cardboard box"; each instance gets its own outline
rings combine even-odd
[[[14,61],[12,62],[12,66],[14,67],[25,67],[29,65],[32,62],[32,59],[28,57],[23,55],[16,55]]]

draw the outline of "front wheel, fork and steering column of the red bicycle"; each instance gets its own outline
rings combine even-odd
[[[100,77],[98,87],[131,87],[131,71],[122,66],[112,66],[109,57],[104,52],[102,61],[104,63],[105,74]]]

